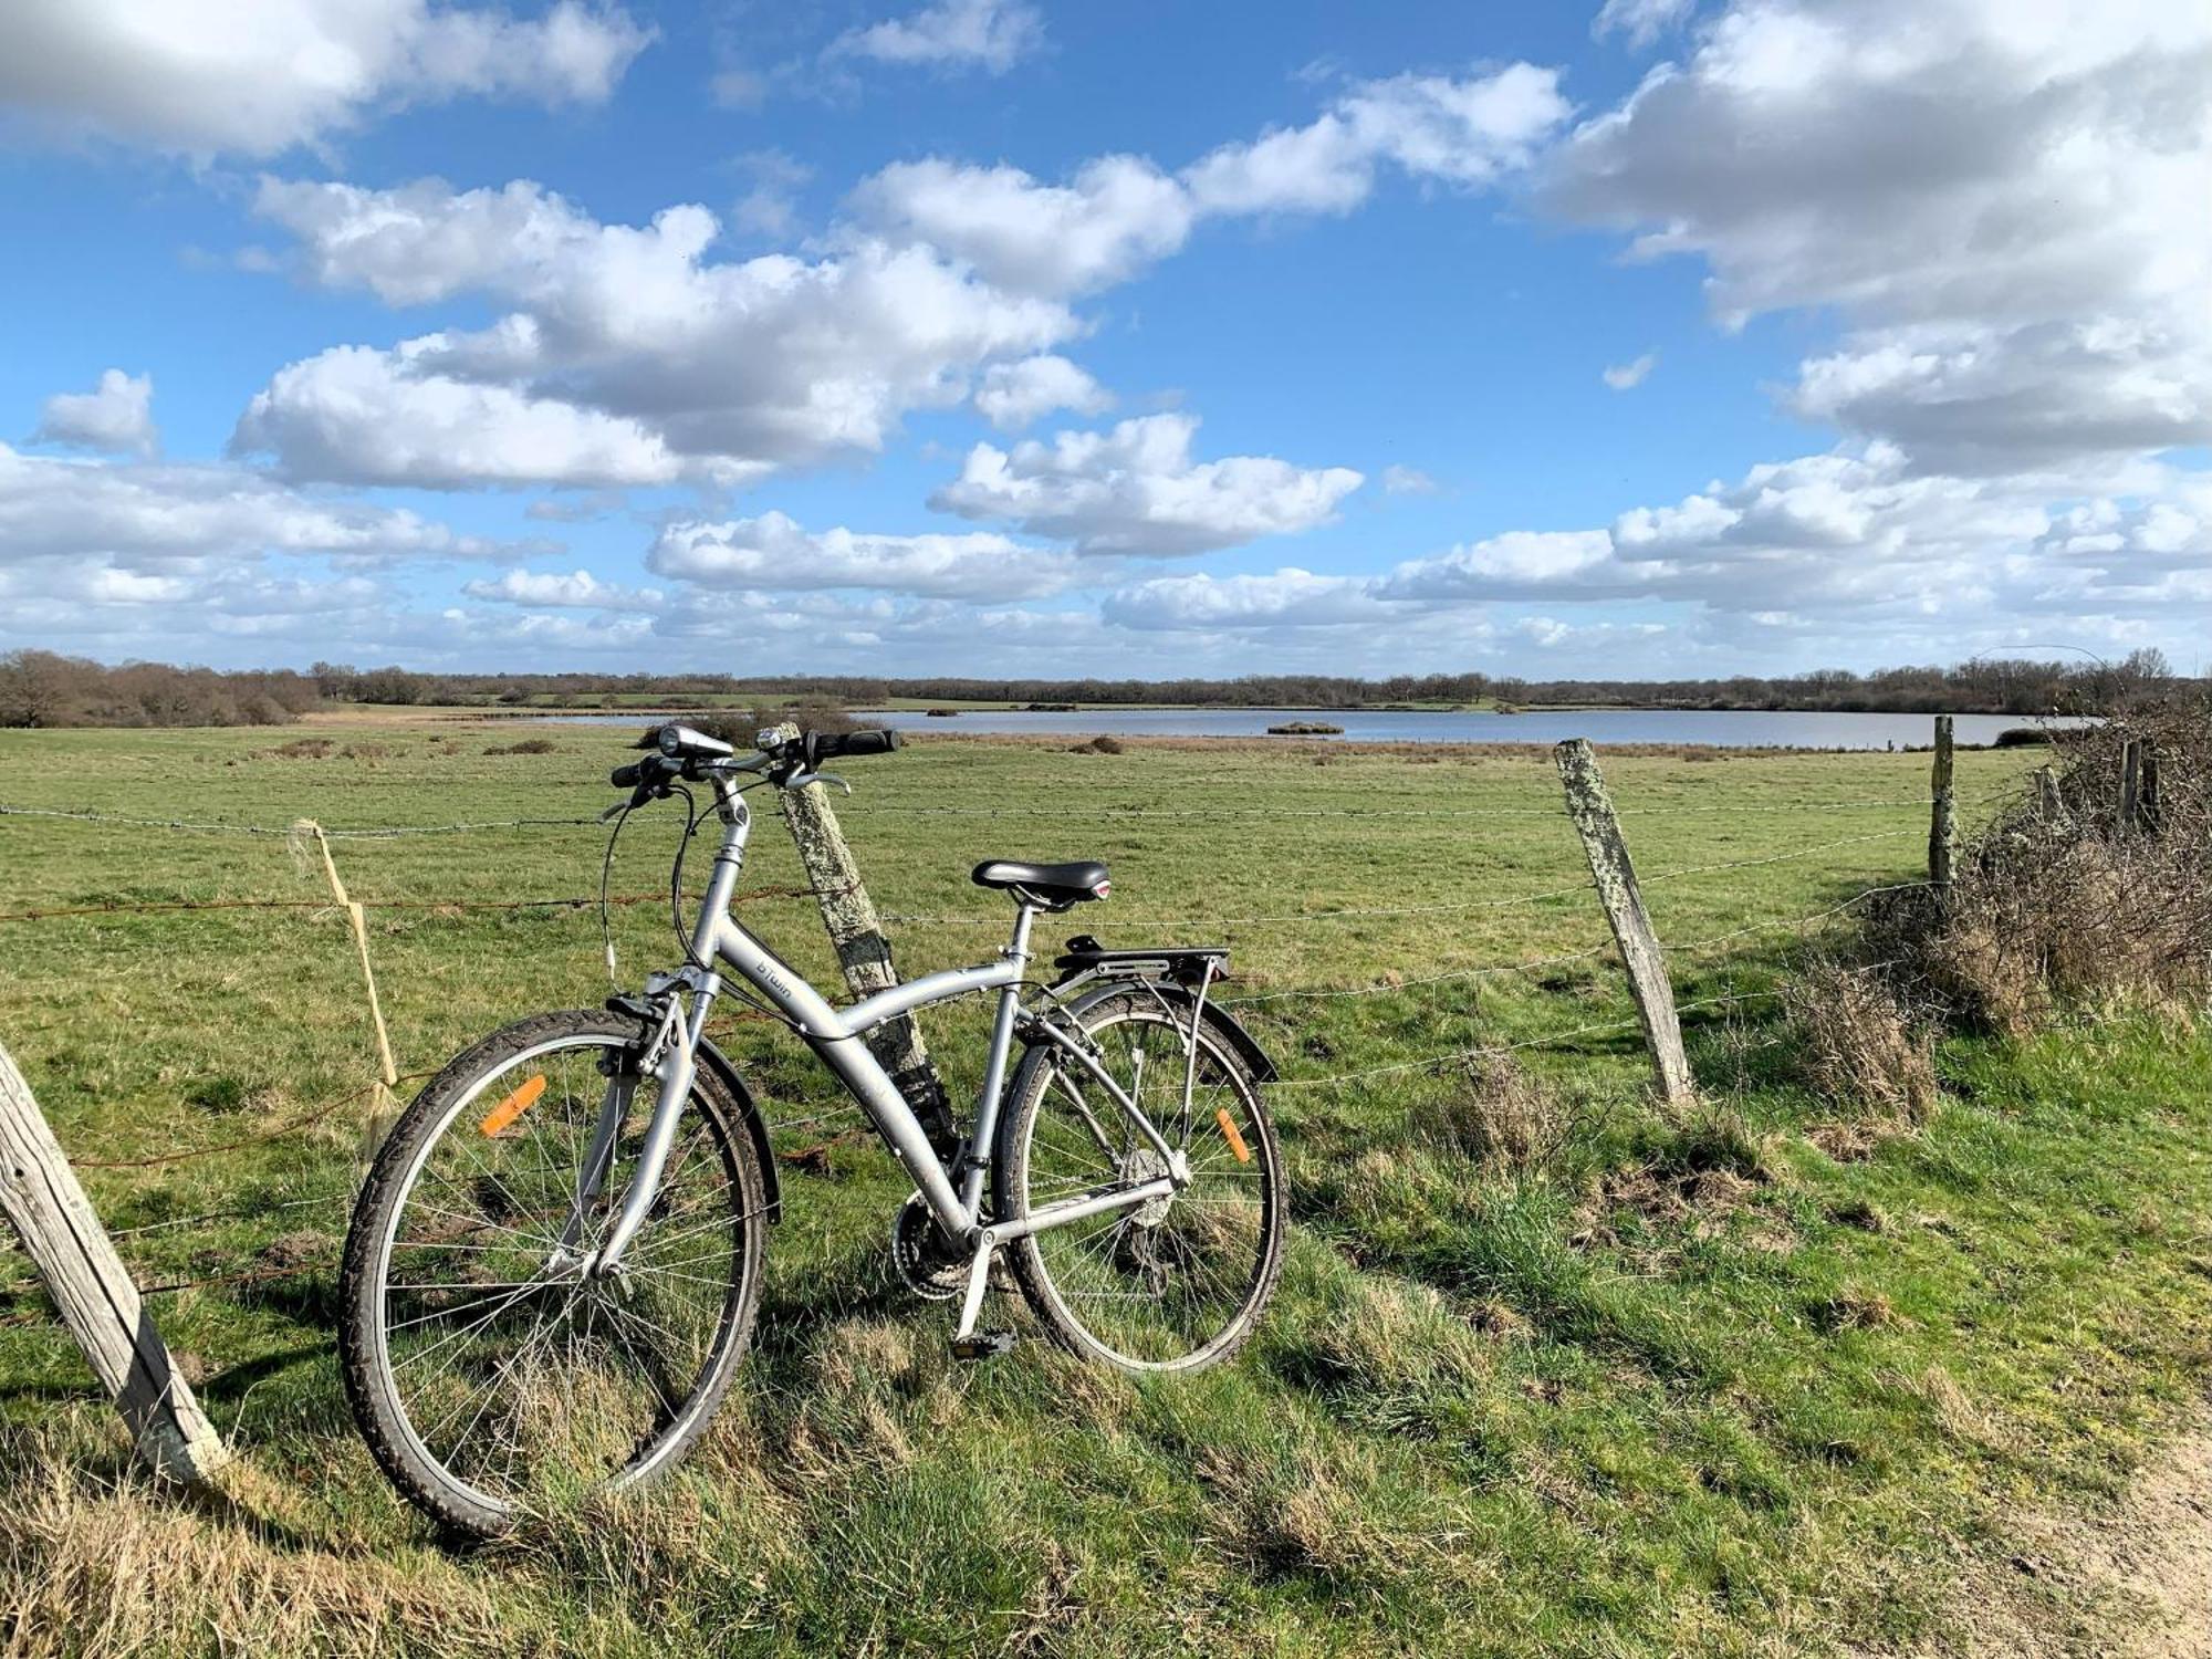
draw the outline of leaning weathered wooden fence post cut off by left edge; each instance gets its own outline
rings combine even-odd
[[[177,1374],[106,1228],[7,1048],[0,1048],[0,1210],[15,1223],[62,1323],[106,1385],[146,1462],[208,1486],[223,1438]]]

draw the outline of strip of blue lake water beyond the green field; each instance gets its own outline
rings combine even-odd
[[[595,726],[648,726],[666,714],[551,717]],[[1086,708],[1075,714],[975,710],[931,719],[918,708],[867,710],[860,719],[902,732],[1031,732],[1037,737],[1265,737],[1285,721],[1343,726],[1343,743],[1714,743],[1721,748],[1882,750],[1936,739],[1929,714],[1790,714],[1765,710],[1564,708],[1526,714],[1305,708]],[[1997,732],[2035,726],[2022,714],[1960,714],[1960,743],[1989,743]],[[2070,721],[2051,721],[2057,726]]]

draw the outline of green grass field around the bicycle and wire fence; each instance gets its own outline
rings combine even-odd
[[[540,730],[553,752],[498,757],[513,726],[319,726],[321,757],[270,730],[0,732],[0,803],[334,830],[597,812],[624,734]],[[2035,759],[1962,754],[1969,818]],[[71,1155],[252,1141],[86,1170],[142,1283],[307,1265],[153,1298],[250,1453],[230,1504],[190,1504],[128,1475],[0,1252],[0,1646],[1670,1655],[1940,1632],[1962,1553],[2022,1506],[2106,1500],[2212,1374],[2212,1044],[2148,1020],[1951,1040],[1927,1128],[1854,1133],[1792,1082],[1763,993],[1801,933],[1763,925],[1920,874],[1927,759],[1606,770],[1677,947],[1712,1102],[1692,1121],[1646,1104],[1608,953],[1467,973],[1606,942],[1542,750],[947,737],[852,763],[838,810],[878,905],[936,918],[898,925],[907,971],[998,945],[978,858],[1102,856],[1115,898],[1060,931],[1225,938],[1245,998],[1429,982],[1243,1011],[1292,1079],[1294,1237],[1232,1367],[1137,1385],[1037,1343],[953,1365],[949,1312],[887,1285],[889,1157],[830,1139],[825,1172],[783,1168],[759,1347],[692,1462],[473,1555],[389,1493],[338,1391],[316,1263],[363,1108],[257,1139],[372,1075],[343,918],[133,909],[319,900],[321,865],[281,836],[0,816],[0,911],[124,907],[0,922],[0,1042]],[[666,883],[679,821],[633,821],[617,894]],[[334,843],[403,1071],[606,995],[588,909],[451,907],[591,894],[602,836]],[[748,885],[796,880],[763,821]],[[827,982],[807,900],[748,922]],[[615,927],[626,978],[672,956],[666,907]],[[927,1024],[956,1091],[982,1020]],[[728,1042],[772,1119],[841,1099],[790,1040]],[[1296,1086],[1506,1042],[1533,1044],[1517,1057],[1564,1113],[1528,1168],[1442,1144],[1460,1068]],[[161,1225],[217,1210],[243,1214]]]

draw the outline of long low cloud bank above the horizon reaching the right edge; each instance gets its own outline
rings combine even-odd
[[[2154,467],[2108,482],[2119,493],[2053,509],[2048,480],[1938,478],[1876,445],[1752,467],[1608,526],[1506,531],[1378,575],[1157,577],[1108,595],[1104,615],[1144,630],[1274,635],[1646,602],[1736,628],[1865,633],[1893,653],[1898,637],[1955,650],[1969,630],[1991,639],[2024,617],[2124,626],[2212,602],[2212,476]]]

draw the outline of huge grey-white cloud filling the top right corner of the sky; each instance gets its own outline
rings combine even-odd
[[[1739,0],[1544,201],[1697,254],[1728,325],[1851,332],[1792,405],[2000,476],[2212,436],[2212,11]],[[2086,234],[2084,226],[2095,226]]]

